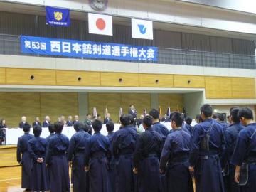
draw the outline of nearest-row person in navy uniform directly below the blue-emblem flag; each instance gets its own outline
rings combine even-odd
[[[161,135],[152,129],[153,119],[146,115],[143,119],[143,132],[136,142],[134,151],[134,174],[138,175],[139,192],[161,191],[159,158],[161,156]]]

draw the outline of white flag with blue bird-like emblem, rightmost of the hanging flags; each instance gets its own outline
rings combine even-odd
[[[132,18],[132,38],[153,40],[153,22]]]

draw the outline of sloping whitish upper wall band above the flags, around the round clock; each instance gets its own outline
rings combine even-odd
[[[6,0],[20,4],[38,6],[59,6],[75,11],[94,12],[87,0]],[[155,0],[110,0],[102,12],[114,16],[144,18],[152,21],[177,23],[223,31],[256,34],[256,15],[212,9],[197,4],[183,4],[181,1]]]

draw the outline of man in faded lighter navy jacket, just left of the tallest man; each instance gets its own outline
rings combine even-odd
[[[181,113],[171,114],[171,127],[174,132],[166,138],[161,153],[160,172],[162,174],[166,172],[168,192],[193,192],[188,163],[191,135],[181,128],[182,123]]]

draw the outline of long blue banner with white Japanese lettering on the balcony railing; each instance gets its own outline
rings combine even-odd
[[[21,36],[21,52],[78,58],[157,61],[158,48],[116,43]]]

